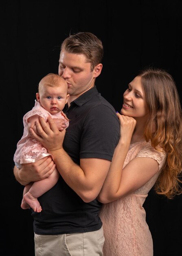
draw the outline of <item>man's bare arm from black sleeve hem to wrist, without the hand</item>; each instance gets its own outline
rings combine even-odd
[[[63,148],[50,151],[54,157],[56,167],[65,180],[84,202],[94,200],[99,194],[110,161],[100,158],[80,159],[80,166],[72,161]]]

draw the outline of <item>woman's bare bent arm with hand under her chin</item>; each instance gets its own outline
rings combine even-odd
[[[114,150],[110,168],[98,195],[102,203],[112,202],[133,193],[146,184],[159,170],[158,162],[151,157],[136,157],[123,168],[136,121],[118,114],[121,137]]]

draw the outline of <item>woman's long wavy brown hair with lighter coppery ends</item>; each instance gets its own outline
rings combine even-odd
[[[141,83],[149,108],[145,139],[167,153],[166,162],[155,184],[156,193],[173,198],[182,193],[182,108],[172,76],[165,70],[141,71]]]

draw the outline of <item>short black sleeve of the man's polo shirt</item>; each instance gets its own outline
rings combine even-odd
[[[119,135],[120,126],[116,113],[102,104],[96,106],[84,121],[80,158],[93,157],[111,161]]]

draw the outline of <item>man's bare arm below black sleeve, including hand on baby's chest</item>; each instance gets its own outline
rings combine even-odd
[[[80,166],[72,161],[70,156],[62,147],[65,130],[59,131],[53,119],[48,118],[51,129],[44,119],[37,122],[37,135],[30,129],[31,136],[40,141],[50,154],[54,157],[56,167],[70,186],[85,202],[94,200],[99,194],[107,172],[110,161],[105,159],[87,158],[80,160]]]

